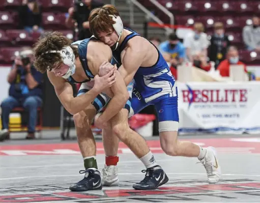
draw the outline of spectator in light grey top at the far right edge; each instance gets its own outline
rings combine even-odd
[[[253,16],[252,25],[243,28],[243,41],[248,50],[260,51],[260,23],[257,16]]]

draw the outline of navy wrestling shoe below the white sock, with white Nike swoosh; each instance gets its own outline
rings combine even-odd
[[[169,180],[161,166],[158,165],[142,170],[142,172],[146,172],[146,177],[140,183],[133,185],[136,190],[155,190]]]

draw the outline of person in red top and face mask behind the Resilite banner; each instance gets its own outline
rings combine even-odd
[[[229,77],[229,66],[235,64],[244,65],[245,72],[247,72],[246,65],[239,61],[238,48],[235,46],[230,46],[227,48],[226,60],[219,64],[217,70],[219,70],[222,77]]]

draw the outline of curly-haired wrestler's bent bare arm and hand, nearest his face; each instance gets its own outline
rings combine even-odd
[[[114,72],[114,71],[113,71]],[[105,82],[104,80],[107,80],[112,82],[114,80],[113,72],[111,71],[110,74],[108,74],[105,78],[100,77],[98,79]],[[73,89],[72,86],[62,77],[56,77],[53,72],[48,71],[47,72],[48,78],[52,85],[54,86],[55,93],[57,97],[60,99],[62,105],[65,107],[65,109],[71,113],[75,114],[81,110],[84,110],[86,107],[88,107],[91,102],[98,96],[98,94],[101,93],[102,89],[93,88],[89,92],[80,95],[78,97],[73,97]]]

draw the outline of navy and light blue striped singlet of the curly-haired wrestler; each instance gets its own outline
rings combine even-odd
[[[84,39],[84,40],[80,40],[80,41],[76,41],[76,42],[72,43],[72,45],[78,46],[79,60],[85,71],[86,76],[88,78],[90,78],[90,79],[84,80],[82,82],[75,81],[72,76],[70,76],[68,78],[68,81],[71,83],[81,83],[77,96],[85,94],[86,92],[90,91],[93,88],[94,83],[92,81],[94,81],[94,75],[92,74],[92,72],[88,66],[88,61],[86,60],[88,44],[91,40],[97,40],[97,39],[92,37],[92,38],[88,38],[88,39]],[[117,62],[117,60],[114,59],[113,56],[110,61],[110,64],[112,64],[112,65],[117,64],[118,67],[120,67],[120,65],[121,65]],[[92,102],[92,104],[95,106],[97,112],[99,112],[109,102],[109,100],[110,100],[110,98],[106,94],[101,93],[96,97],[96,99]],[[126,108],[130,111],[130,104],[131,104],[131,99],[128,100],[128,102],[126,103],[124,108]]]

